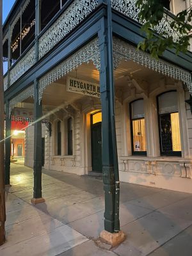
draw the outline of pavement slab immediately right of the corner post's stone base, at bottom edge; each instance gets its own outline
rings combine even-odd
[[[175,216],[170,218],[161,212],[151,212],[122,227],[127,239],[114,252],[121,256],[127,256],[127,250],[129,256],[148,255],[189,227],[191,223],[192,220],[183,220]]]

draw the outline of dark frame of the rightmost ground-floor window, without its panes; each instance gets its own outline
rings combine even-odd
[[[176,92],[177,90],[169,90],[163,93],[160,93],[156,96],[156,102],[157,102],[157,119],[158,119],[158,132],[159,132],[159,150],[160,150],[160,155],[161,156],[179,156],[182,157],[182,150],[181,151],[163,151],[162,147],[161,147],[161,123],[160,123],[160,116],[163,115],[168,115],[168,114],[173,114],[173,113],[178,113],[179,114],[179,106],[178,107],[178,111],[175,112],[170,112],[170,113],[164,113],[164,114],[159,114],[159,97],[165,93],[169,93],[169,92]],[[178,104],[178,100],[177,100],[177,104]],[[179,129],[180,129],[180,118],[179,118]],[[181,129],[180,129],[181,132]],[[180,146],[182,147],[182,141],[181,141],[181,136],[180,136]]]

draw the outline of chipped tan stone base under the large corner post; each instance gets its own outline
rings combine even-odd
[[[100,233],[100,241],[110,244],[112,247],[118,246],[125,240],[125,238],[126,235],[121,230],[118,233],[110,233],[106,230]]]

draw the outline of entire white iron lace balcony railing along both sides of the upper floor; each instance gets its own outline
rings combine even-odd
[[[71,1],[64,7],[63,11],[60,12],[58,19],[52,19],[47,24],[47,28],[40,33],[38,38],[38,58],[42,58],[51,51],[51,49],[58,44],[72,29],[82,22],[90,13],[97,8],[99,0],[74,0]],[[132,20],[140,22],[138,18],[138,8],[136,8],[136,0],[111,0],[111,6],[118,12],[123,13]],[[156,30],[158,33],[166,29],[168,35],[172,35],[174,40],[177,40],[178,36],[174,33],[173,29],[170,28],[170,22],[173,20],[171,15],[164,13],[163,20],[159,23]],[[140,22],[141,23],[141,22]],[[10,68],[10,83],[8,83],[8,76],[4,77],[4,90],[7,90],[8,85],[10,86],[15,83],[25,72],[29,70],[35,64],[35,45],[29,47],[19,60]]]

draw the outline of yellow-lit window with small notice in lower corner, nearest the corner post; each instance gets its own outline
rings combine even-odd
[[[130,110],[132,154],[146,155],[147,148],[143,99],[134,100],[131,102]]]

